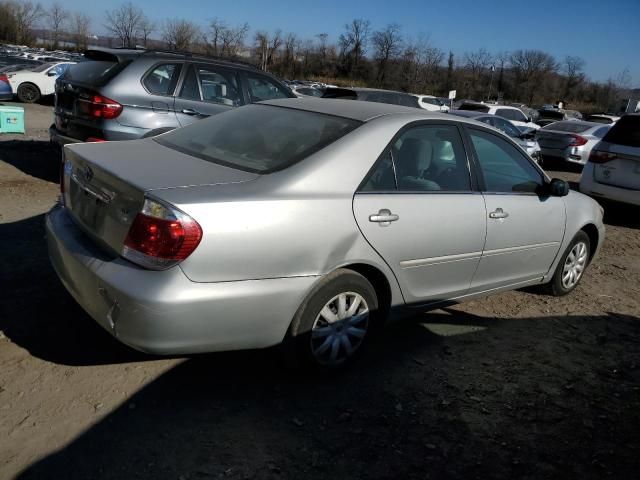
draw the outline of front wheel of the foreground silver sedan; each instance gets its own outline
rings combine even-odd
[[[590,255],[589,237],[581,230],[573,237],[558,262],[553,278],[547,284],[547,291],[555,297],[561,297],[574,290],[589,265]]]

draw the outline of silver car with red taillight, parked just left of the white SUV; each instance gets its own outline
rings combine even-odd
[[[610,128],[611,125],[601,123],[563,120],[542,127],[536,138],[543,157],[555,157],[584,165],[591,149]]]

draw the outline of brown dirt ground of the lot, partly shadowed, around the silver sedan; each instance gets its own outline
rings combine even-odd
[[[49,266],[50,121],[28,106],[28,134],[0,137],[0,478],[638,478],[637,209],[606,205],[572,295],[424,313],[334,378],[273,351],[158,359],[102,331]]]

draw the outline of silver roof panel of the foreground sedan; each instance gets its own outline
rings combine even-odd
[[[340,98],[288,98],[260,102],[275,107],[295,108],[309,112],[323,113],[337,117],[350,118],[360,122],[367,122],[376,117],[394,114],[412,114],[427,118],[450,118],[445,113],[429,112],[428,110],[403,107],[389,103],[359,102]]]

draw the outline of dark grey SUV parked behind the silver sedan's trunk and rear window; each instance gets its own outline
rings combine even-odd
[[[133,140],[247,103],[295,97],[257,68],[195,54],[96,49],[56,81],[51,140]]]

